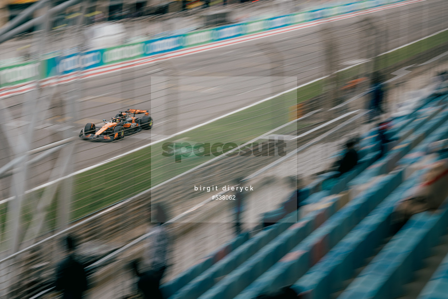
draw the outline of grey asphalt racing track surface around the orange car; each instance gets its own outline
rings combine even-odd
[[[388,28],[388,41],[381,45],[380,53],[447,28],[447,9],[448,3],[444,0],[426,0],[368,15],[377,26]],[[366,28],[363,25],[365,18],[359,16],[330,23],[337,43],[337,69],[349,66],[348,61],[366,57],[366,45],[374,41],[366,37],[366,30],[360,29]],[[47,114],[35,125],[39,129],[34,133],[32,148],[64,138],[61,129],[67,128],[72,135],[77,135],[87,122],[98,124],[120,110],[151,110],[154,119],[151,131],[108,144],[77,140],[71,162],[73,170],[79,170],[319,78],[327,74],[323,26],[94,76],[81,80],[79,85],[57,86],[56,93],[76,99],[77,117],[65,117],[57,108],[61,102],[52,101],[48,107],[56,108],[44,109]],[[169,76],[180,78],[168,79]],[[283,77],[281,80],[280,76]],[[169,84],[174,87],[168,88]],[[50,94],[55,90],[46,88],[43,92]],[[9,108],[8,114],[22,115],[6,125],[16,134],[23,133],[26,127],[21,126],[30,119],[31,113],[21,104],[25,96],[15,95],[2,100]],[[40,107],[47,107],[42,98],[39,101]],[[177,112],[173,114],[176,106]],[[12,153],[12,149],[3,152],[1,166],[11,159]],[[46,158],[31,168],[28,189],[48,181],[47,173],[54,167],[55,157]],[[9,180],[0,180],[1,198],[10,196]]]

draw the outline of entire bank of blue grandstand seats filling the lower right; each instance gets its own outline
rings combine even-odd
[[[291,284],[304,298],[330,298],[343,289],[343,281],[390,235],[394,207],[426,171],[415,171],[415,164],[426,157],[429,143],[448,138],[447,102],[445,95],[431,96],[393,119],[388,134],[396,141],[382,157],[376,132],[363,135],[354,169],[336,180],[319,176],[304,189],[306,206],[299,213],[285,216],[279,208],[266,214],[282,220],[251,238],[240,236],[220,258],[208,257],[164,284],[167,298],[255,298]],[[402,295],[400,286],[412,279],[447,224],[447,201],[435,213],[414,215],[340,298]],[[448,257],[420,297],[447,293]]]

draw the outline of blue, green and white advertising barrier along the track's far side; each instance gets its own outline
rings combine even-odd
[[[79,70],[89,71],[98,67],[130,61],[136,58],[168,53],[403,1],[406,0],[357,1],[275,18],[220,26],[207,30],[193,31],[183,35],[155,38],[112,48],[54,56],[41,61],[0,67],[0,88],[20,85],[37,79],[51,78],[57,75],[68,75]]]

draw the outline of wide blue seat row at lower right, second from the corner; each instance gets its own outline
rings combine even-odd
[[[448,202],[434,213],[412,216],[373,261],[340,295],[340,299],[392,299],[403,295],[403,284],[422,265],[431,246],[445,234]]]

